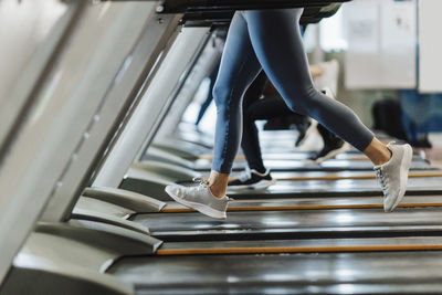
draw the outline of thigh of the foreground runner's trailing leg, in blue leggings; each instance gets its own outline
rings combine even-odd
[[[313,87],[299,30],[303,9],[246,11],[249,35],[270,81],[284,97],[294,99]]]

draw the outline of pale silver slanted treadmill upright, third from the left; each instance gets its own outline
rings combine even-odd
[[[175,99],[173,92],[182,81],[189,62],[207,35],[207,29],[187,29],[178,36],[166,56],[164,65],[154,77],[122,136],[109,151],[93,182],[94,187],[119,186],[125,172],[144,143],[149,143]],[[158,109],[152,114],[152,109]]]

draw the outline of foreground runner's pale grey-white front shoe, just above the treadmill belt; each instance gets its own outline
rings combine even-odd
[[[167,186],[166,192],[177,202],[214,219],[225,219],[229,198],[217,198],[207,183],[196,187]]]

